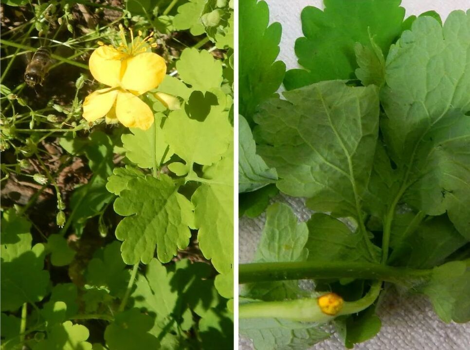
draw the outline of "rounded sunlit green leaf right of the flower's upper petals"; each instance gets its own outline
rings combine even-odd
[[[206,92],[222,84],[222,62],[206,50],[184,49],[176,69],[181,80],[194,90]]]

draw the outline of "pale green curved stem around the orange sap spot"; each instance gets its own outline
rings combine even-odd
[[[282,318],[301,322],[324,323],[341,315],[357,314],[374,303],[380,293],[380,282],[376,281],[359,300],[344,302],[336,315],[325,314],[318,305],[318,298],[302,298],[285,301],[261,301],[241,304],[239,318]]]

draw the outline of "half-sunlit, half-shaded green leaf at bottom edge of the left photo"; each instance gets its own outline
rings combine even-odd
[[[47,339],[37,343],[33,350],[91,350],[91,344],[86,341],[89,335],[85,326],[66,321],[54,325]]]

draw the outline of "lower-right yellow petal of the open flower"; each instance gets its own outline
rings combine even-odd
[[[152,110],[134,94],[120,90],[116,99],[116,116],[124,126],[147,130],[154,122]]]

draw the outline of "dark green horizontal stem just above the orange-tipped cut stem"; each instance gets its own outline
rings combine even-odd
[[[410,278],[425,279],[431,273],[432,270],[393,267],[371,262],[263,262],[240,264],[238,282],[355,278],[406,285]]]

